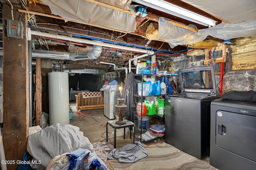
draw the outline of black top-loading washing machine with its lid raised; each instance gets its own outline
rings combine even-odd
[[[165,98],[166,143],[202,159],[210,152],[210,104],[216,96],[212,66],[180,69],[180,94]]]

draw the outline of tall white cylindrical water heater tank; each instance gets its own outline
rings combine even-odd
[[[67,72],[49,72],[50,125],[69,124],[69,88]]]

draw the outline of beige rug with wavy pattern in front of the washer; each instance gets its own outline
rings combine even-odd
[[[217,170],[208,162],[187,154],[168,143],[145,147],[148,156],[135,163],[109,162],[114,170]]]

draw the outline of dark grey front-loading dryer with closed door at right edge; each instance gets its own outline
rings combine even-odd
[[[210,118],[210,164],[256,170],[256,102],[213,100]]]

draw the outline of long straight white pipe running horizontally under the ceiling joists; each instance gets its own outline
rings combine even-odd
[[[43,37],[62,39],[62,40],[72,41],[72,42],[77,42],[77,43],[100,45],[103,47],[111,47],[111,48],[116,48],[116,49],[134,51],[134,52],[138,52],[138,53],[146,53],[149,55],[154,54],[154,51],[150,51],[150,50],[136,49],[136,48],[132,48],[132,47],[125,47],[125,46],[121,46],[121,45],[108,44],[108,43],[103,43],[103,42],[98,42],[98,41],[90,41],[90,40],[86,40],[86,39],[68,37],[68,36],[64,36],[64,35],[54,35],[54,34],[50,34],[50,33],[44,33],[44,32],[33,31],[33,30],[31,30],[31,35],[38,35],[38,36],[43,36]]]

